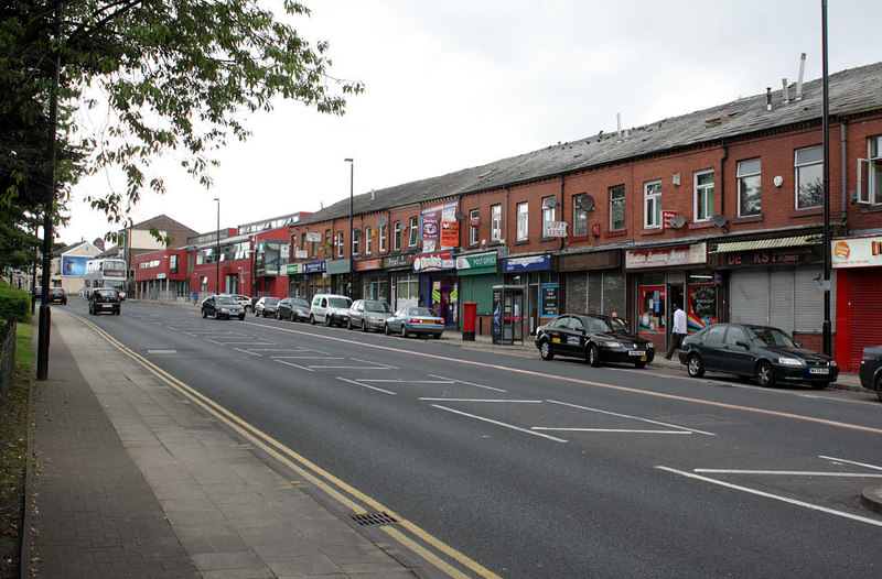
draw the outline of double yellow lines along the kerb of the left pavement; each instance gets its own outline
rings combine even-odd
[[[191,386],[181,382],[170,373],[159,368],[153,362],[136,353],[133,350],[125,346],[122,342],[120,342],[119,340],[107,334],[104,329],[96,326],[88,319],[83,318],[82,316],[77,316],[76,314],[72,314],[72,316],[74,316],[79,321],[85,324],[93,331],[95,331],[95,334],[104,338],[104,340],[107,341],[110,346],[112,346],[127,357],[129,357],[138,365],[142,367],[144,370],[153,374],[161,382],[164,382],[165,384],[178,391],[181,395],[183,395],[191,402],[200,405],[202,408],[205,409],[205,412],[207,412],[222,423],[233,428],[236,433],[238,433],[243,438],[247,439],[254,446],[260,448],[263,452],[271,456],[273,459],[278,460],[282,465],[287,466],[288,468],[300,474],[303,479],[314,484],[316,488],[321,489],[324,493],[333,498],[344,507],[351,510],[353,515],[367,514],[368,509],[370,509],[376,512],[385,512],[389,516],[396,518],[398,521],[398,525],[407,529],[413,537],[416,537],[419,540],[415,540],[413,538],[411,538],[411,536],[401,533],[398,528],[395,528],[394,526],[390,525],[383,525],[379,528],[387,535],[389,535],[389,537],[397,540],[401,545],[406,546],[407,548],[409,548],[410,550],[422,557],[424,560],[435,566],[439,570],[443,571],[448,576],[456,579],[467,579],[470,577],[469,575],[464,573],[463,571],[461,571],[447,560],[444,560],[441,556],[438,555],[438,553],[441,553],[447,557],[449,557],[450,559],[456,561],[459,565],[461,565],[469,571],[472,571],[477,577],[483,577],[485,579],[499,579],[499,577],[493,571],[484,568],[478,562],[472,560],[471,558],[466,557],[465,555],[458,551],[453,547],[433,537],[432,535],[430,535],[419,526],[415,525],[413,523],[395,514],[392,511],[384,506],[378,501],[375,501],[374,499],[367,496],[357,489],[354,489],[353,487],[346,484],[338,478],[334,477],[330,472],[320,468],[318,465],[313,463],[306,458],[294,452],[293,450],[291,450],[283,444],[279,443],[271,436],[267,435],[260,429],[243,420],[241,418],[239,418],[228,409],[224,408],[213,400],[208,398],[207,396],[201,394]]]

